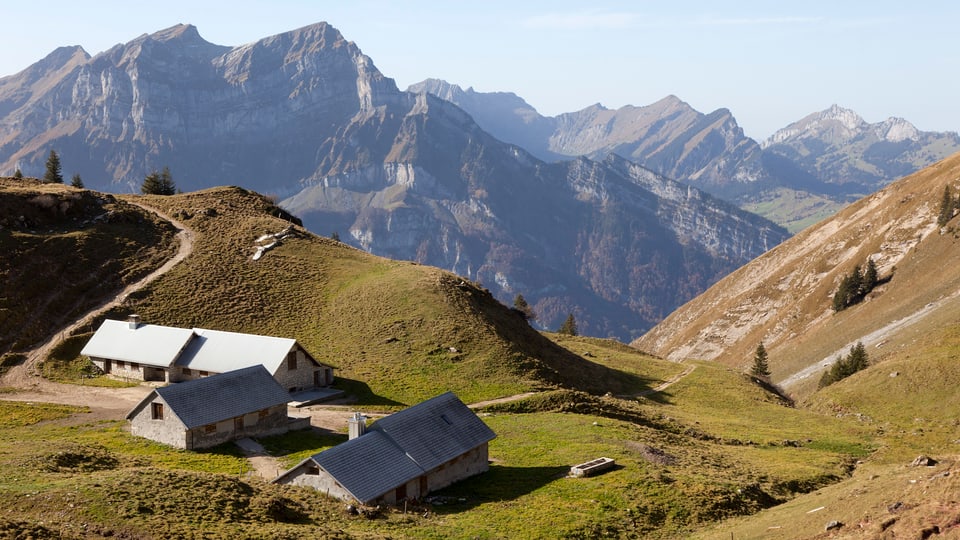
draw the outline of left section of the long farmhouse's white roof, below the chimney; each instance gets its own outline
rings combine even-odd
[[[130,326],[126,321],[103,321],[80,354],[169,367],[193,337],[193,330],[186,328],[156,324]]]

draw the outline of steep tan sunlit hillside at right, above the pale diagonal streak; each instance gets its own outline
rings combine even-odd
[[[944,320],[933,310],[924,312],[926,306],[960,311],[960,218],[937,226],[944,187],[956,193],[958,178],[960,155],[890,184],[730,274],[635,344],[671,359],[746,368],[763,342],[777,382],[829,361],[860,339],[870,338],[871,354],[877,345],[908,345],[898,335],[918,328],[922,333]],[[862,303],[834,312],[831,299],[840,280],[868,257],[889,281]],[[919,326],[871,335],[921,313]],[[789,390],[809,395],[817,379],[819,373],[791,381]]]

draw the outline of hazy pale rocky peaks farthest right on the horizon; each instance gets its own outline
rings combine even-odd
[[[867,194],[960,152],[960,136],[919,131],[902,118],[869,124],[834,105],[777,131],[763,147],[839,192]]]

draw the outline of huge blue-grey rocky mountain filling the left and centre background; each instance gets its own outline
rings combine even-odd
[[[40,176],[56,149],[93,189],[137,191],[167,165],[184,191],[240,185],[320,234],[523,294],[544,328],[573,313],[634,338],[788,236],[622,159],[540,161],[399,91],[326,23],[239,47],[177,25],[64,49],[0,79],[0,110],[0,171]]]

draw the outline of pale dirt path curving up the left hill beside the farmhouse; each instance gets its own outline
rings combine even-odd
[[[174,266],[186,259],[190,253],[193,252],[193,231],[188,229],[183,223],[154,208],[139,203],[132,204],[157,214],[177,228],[176,238],[179,241],[177,254],[160,268],[154,270],[139,281],[127,285],[119,294],[106,300],[80,319],[51,336],[46,342],[27,351],[25,353],[27,357],[26,361],[19,366],[11,368],[6,375],[4,375],[2,381],[0,381],[4,386],[15,388],[17,391],[0,394],[0,398],[12,401],[43,401],[64,405],[87,406],[95,411],[97,416],[123,418],[131,407],[150,392],[151,387],[149,386],[101,388],[55,383],[44,379],[37,371],[37,365],[50,354],[50,351],[57,344],[69,336],[71,332],[81,326],[89,325],[90,321],[101,313],[122,304],[123,301],[126,300],[127,295],[143,288],[151,281],[169,272]]]

